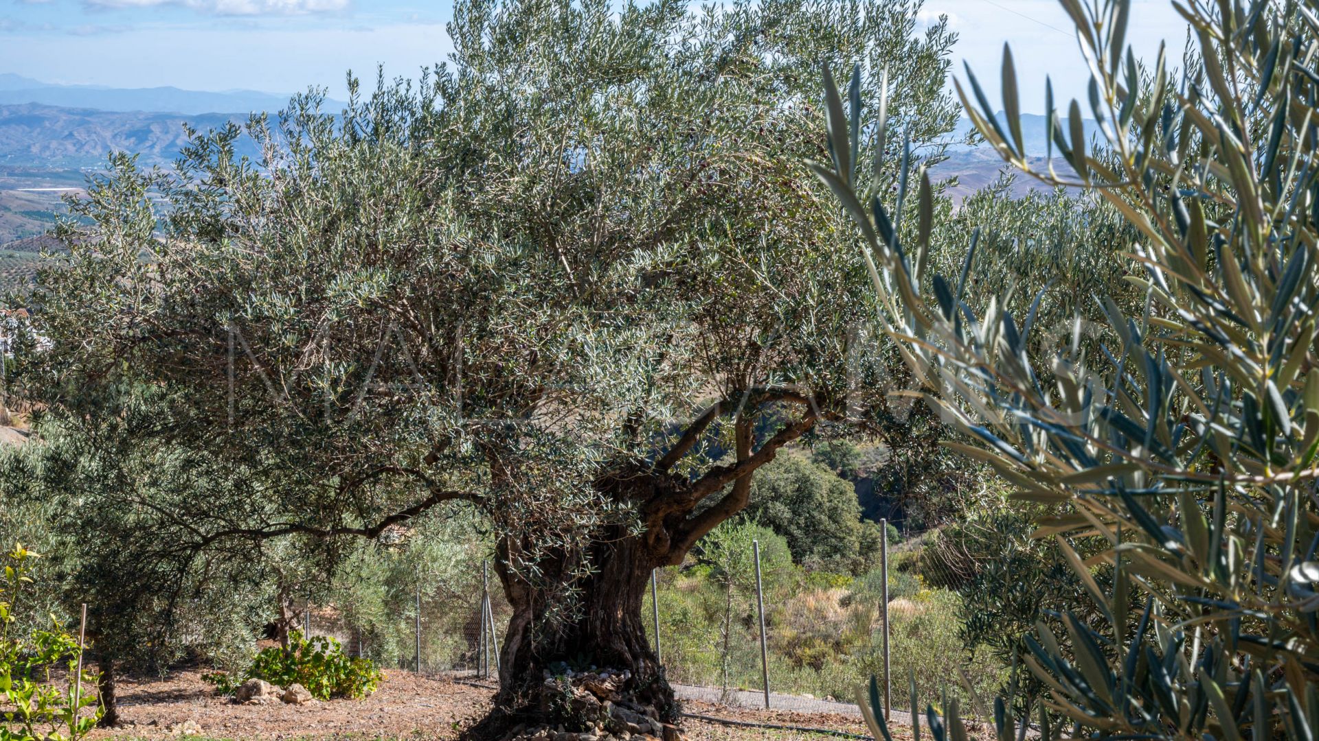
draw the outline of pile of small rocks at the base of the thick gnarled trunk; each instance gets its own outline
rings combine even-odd
[[[653,707],[632,701],[624,688],[632,679],[628,670],[567,671],[562,676],[545,674],[542,711],[554,712],[551,697],[566,700],[568,724],[550,728],[514,728],[517,741],[681,741],[678,726],[661,723]],[[568,730],[567,726],[586,728]]]

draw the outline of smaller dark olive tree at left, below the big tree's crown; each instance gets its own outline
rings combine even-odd
[[[87,604],[102,725],[119,721],[116,682],[187,655],[255,649],[273,607],[273,542],[199,543],[212,522],[260,522],[268,506],[247,469],[149,430],[170,421],[142,394],[116,414],[45,415],[20,448],[0,452],[0,523],[38,525],[38,585],[65,612]],[[74,613],[77,614],[77,613]]]

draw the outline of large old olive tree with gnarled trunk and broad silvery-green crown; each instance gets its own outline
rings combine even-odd
[[[855,237],[802,162],[823,156],[820,61],[864,63],[867,95],[888,80],[940,154],[954,37],[917,11],[459,3],[451,63],[415,83],[198,133],[171,171],[116,158],[41,276],[53,347],[28,393],[78,414],[86,389],[165,389],[161,436],[244,465],[270,505],[203,516],[204,547],[474,502],[513,607],[503,705],[590,655],[669,712],[652,568],[785,444],[849,422],[849,380],[877,372],[849,352]]]

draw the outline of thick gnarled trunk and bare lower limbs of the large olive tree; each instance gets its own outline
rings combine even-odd
[[[596,483],[603,494],[637,514],[640,529],[611,525],[572,552],[549,555],[516,538],[500,542],[496,572],[513,614],[500,650],[499,709],[474,736],[497,736],[499,729],[543,716],[545,675],[557,662],[627,670],[624,695],[654,708],[661,720],[677,719],[673,688],[649,645],[641,612],[650,572],[682,563],[698,539],[745,508],[752,472],[815,423],[807,411],[753,450],[753,419],[739,415],[735,463],[695,479],[671,473],[719,413],[715,405],[653,464],[616,471]],[[509,567],[533,552],[534,580]]]

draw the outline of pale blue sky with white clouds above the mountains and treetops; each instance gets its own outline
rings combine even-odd
[[[1093,0],[1084,0],[1093,1]],[[452,49],[451,0],[0,0],[0,73],[42,82],[109,87],[259,90],[289,94],[323,86],[346,98],[344,74],[417,76]],[[947,16],[962,61],[997,100],[1009,42],[1022,109],[1055,95],[1084,99],[1076,40],[1057,0],[926,0],[925,24]],[[1170,0],[1134,0],[1129,41],[1153,59],[1167,41],[1175,59],[1184,21]]]

